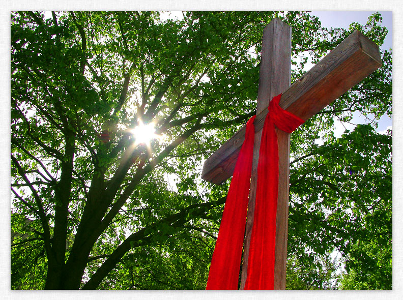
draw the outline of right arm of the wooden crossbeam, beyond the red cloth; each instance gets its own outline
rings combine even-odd
[[[378,45],[357,30],[295,81],[280,106],[306,121],[381,66]]]

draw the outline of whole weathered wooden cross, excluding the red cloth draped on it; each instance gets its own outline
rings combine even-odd
[[[282,93],[281,108],[307,120],[346,93],[381,66],[378,46],[355,31],[327,54],[299,80],[291,84],[291,27],[273,19],[263,31],[262,57],[253,149],[248,214],[245,230],[241,289],[245,286],[250,235],[253,226],[257,162],[263,123],[269,101]],[[201,177],[221,184],[232,176],[245,139],[244,126],[213,153],[203,166]],[[276,218],[274,289],[285,289],[289,211],[290,134],[277,130],[279,183]]]

